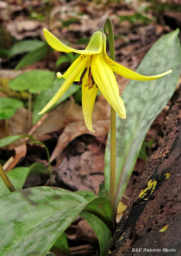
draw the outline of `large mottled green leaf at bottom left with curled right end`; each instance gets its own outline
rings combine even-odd
[[[64,231],[81,214],[97,234],[101,256],[112,238],[105,224],[111,220],[108,198],[88,202],[68,190],[44,186],[1,196],[0,205],[0,256],[44,256],[55,247],[69,254],[67,244],[61,244]]]

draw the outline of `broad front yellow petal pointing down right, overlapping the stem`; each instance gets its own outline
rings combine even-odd
[[[103,96],[118,113],[118,115],[125,119],[126,110],[123,100],[119,95],[119,88],[114,76],[114,73],[107,63],[104,53],[92,56],[91,71],[93,79]]]

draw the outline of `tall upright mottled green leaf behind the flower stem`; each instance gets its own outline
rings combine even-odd
[[[116,205],[129,181],[146,133],[157,115],[173,95],[181,66],[179,30],[164,35],[148,51],[137,72],[156,75],[172,73],[154,81],[130,81],[122,99],[127,119],[116,116]],[[110,193],[110,132],[105,155],[105,187]]]

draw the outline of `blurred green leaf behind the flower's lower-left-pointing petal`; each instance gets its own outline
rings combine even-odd
[[[51,100],[51,98],[56,94],[56,92],[58,91],[58,89],[60,88],[60,86],[62,85],[62,83],[64,81],[65,80],[63,78],[56,79],[52,83],[51,88],[47,89],[46,91],[43,91],[42,93],[40,93],[40,95],[38,95],[38,97],[36,98],[36,101],[35,101],[35,105],[34,105],[33,124],[36,124],[38,122],[38,120],[43,116],[43,115],[38,115],[38,113],[44,108],[45,105],[47,105],[47,103]],[[47,112],[49,112],[50,110],[55,108],[55,106],[60,104],[62,101],[69,98],[78,89],[79,89],[79,87],[77,85],[72,84],[67,89],[67,91],[63,94],[63,96],[53,106],[51,106],[51,108]]]

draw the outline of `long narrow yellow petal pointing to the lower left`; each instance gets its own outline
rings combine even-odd
[[[41,110],[40,113],[38,114],[43,114],[45,111],[47,111],[59,98],[65,93],[65,91],[69,88],[69,86],[72,84],[72,82],[75,80],[77,77],[77,74],[79,73],[80,70],[83,69],[83,67],[86,66],[86,63],[89,59],[89,55],[86,56],[83,60],[80,60],[79,63],[77,63],[77,67],[74,68],[72,73],[69,75],[69,77],[64,81],[60,89],[57,91],[57,93],[53,96],[53,98],[48,102],[48,104]]]

